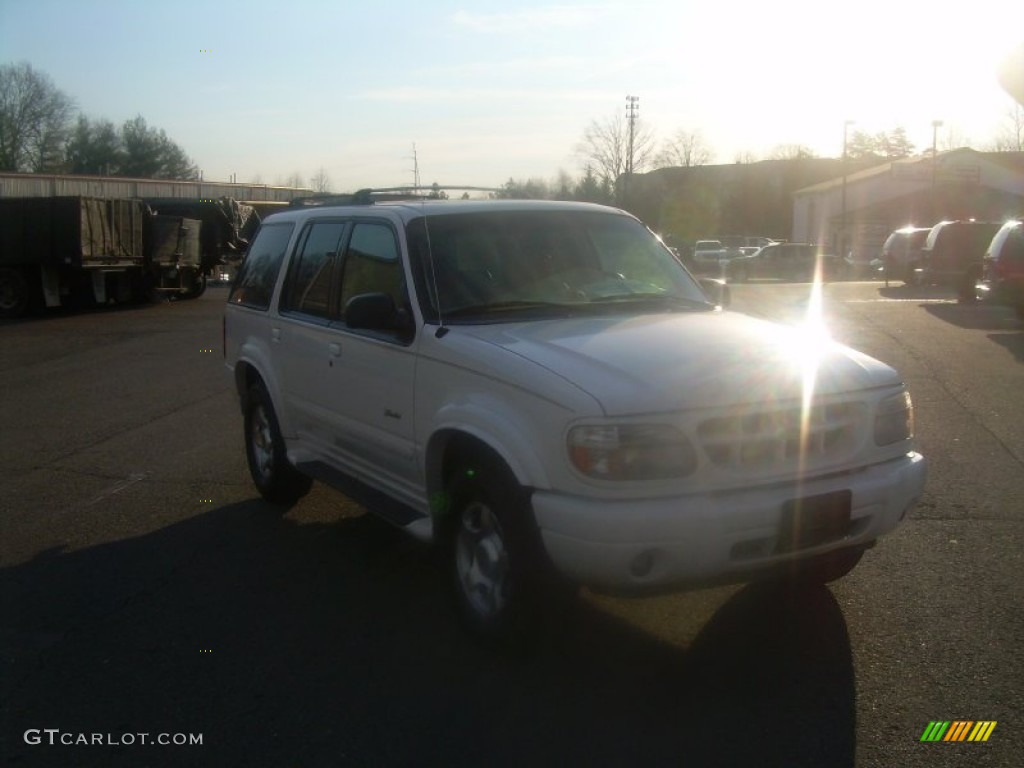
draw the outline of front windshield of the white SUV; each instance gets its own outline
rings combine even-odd
[[[408,237],[425,314],[439,311],[444,322],[713,308],[660,241],[628,216],[445,214],[415,219]]]

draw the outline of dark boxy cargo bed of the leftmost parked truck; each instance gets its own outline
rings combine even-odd
[[[137,200],[0,199],[0,264],[141,265],[144,217]]]

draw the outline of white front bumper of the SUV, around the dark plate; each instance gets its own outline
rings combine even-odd
[[[869,546],[920,500],[927,461],[916,453],[841,476],[708,495],[604,501],[535,492],[548,556],[572,581],[650,589],[744,573],[846,547]],[[851,492],[841,538],[779,553],[783,507],[797,498]]]

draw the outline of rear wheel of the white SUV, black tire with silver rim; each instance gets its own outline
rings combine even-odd
[[[249,388],[245,430],[249,474],[260,496],[274,504],[294,504],[309,493],[312,480],[289,464],[278,416],[262,383]]]

